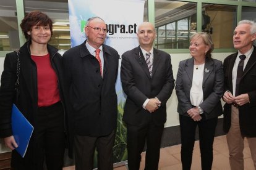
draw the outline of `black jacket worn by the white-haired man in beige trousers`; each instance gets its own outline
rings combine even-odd
[[[237,52],[226,57],[224,67],[224,92],[233,92],[232,70]],[[239,106],[239,125],[242,136],[256,137],[256,47],[244,68],[239,84],[239,95],[248,94],[250,103]],[[224,105],[223,131],[228,133],[231,126],[231,104]]]

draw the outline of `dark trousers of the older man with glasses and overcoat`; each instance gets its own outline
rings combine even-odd
[[[93,169],[93,155],[95,154],[95,148],[97,150],[98,169],[113,169],[113,145],[115,135],[116,129],[107,136],[101,137],[75,135],[75,169]]]

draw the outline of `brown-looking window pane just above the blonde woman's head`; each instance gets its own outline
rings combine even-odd
[[[211,34],[215,49],[233,49],[233,32],[237,23],[237,7],[216,4],[202,4],[202,26]]]

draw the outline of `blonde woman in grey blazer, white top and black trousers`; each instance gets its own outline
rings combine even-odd
[[[207,33],[190,38],[192,58],[179,63],[176,79],[177,111],[181,125],[182,169],[190,169],[198,126],[201,166],[211,169],[213,140],[218,116],[223,114],[221,97],[224,74],[222,62],[211,58],[213,42]]]

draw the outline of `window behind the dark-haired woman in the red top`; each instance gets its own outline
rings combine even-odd
[[[53,36],[49,44],[62,50],[70,49],[68,0],[24,0],[25,13],[40,10],[53,20]]]

